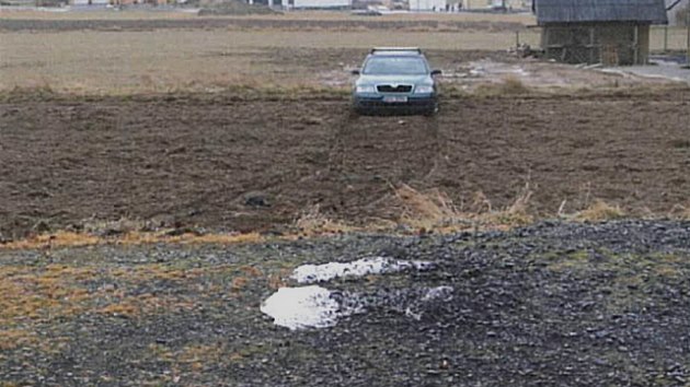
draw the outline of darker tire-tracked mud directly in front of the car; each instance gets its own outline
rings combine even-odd
[[[334,128],[327,171],[342,186],[341,202],[376,206],[401,184],[428,186],[441,167],[446,149],[439,116],[356,116],[346,114]],[[348,195],[371,190],[372,196]],[[352,202],[353,198],[366,202]],[[349,203],[348,203],[349,201]]]

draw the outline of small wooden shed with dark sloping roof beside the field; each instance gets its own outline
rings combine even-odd
[[[566,63],[644,64],[665,0],[534,0],[545,56]]]

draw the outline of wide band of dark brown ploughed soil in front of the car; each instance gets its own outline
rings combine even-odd
[[[445,99],[425,117],[353,117],[347,101],[231,96],[0,105],[0,233],[88,220],[275,231],[319,206],[396,220],[393,189],[536,214],[602,199],[633,214],[688,204],[688,92]]]

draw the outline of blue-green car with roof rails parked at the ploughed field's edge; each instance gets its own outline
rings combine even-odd
[[[373,48],[353,86],[357,114],[400,113],[433,115],[438,112],[440,70],[432,70],[416,47]]]

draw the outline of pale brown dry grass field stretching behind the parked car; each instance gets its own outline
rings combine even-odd
[[[34,31],[32,21],[59,24]],[[88,30],[72,25],[79,22],[95,24],[89,24]],[[156,22],[170,24],[151,24]],[[184,24],[187,22],[194,24]],[[394,24],[386,27],[387,23]],[[539,31],[527,28],[533,23],[530,14],[395,14],[371,19],[344,12],[295,12],[199,19],[181,12],[2,11],[0,91],[41,87],[126,95],[257,84],[331,86],[329,74],[340,77],[343,83],[344,74],[372,46],[497,52],[514,47],[519,33],[521,43],[537,47]],[[681,49],[683,31],[669,31],[669,49]],[[663,47],[662,28],[655,30],[652,40],[654,49]],[[303,50],[311,51],[304,58],[289,55]],[[461,54],[458,58],[465,59]],[[441,60],[438,64],[447,69],[455,63]],[[314,77],[314,67],[319,77]]]

